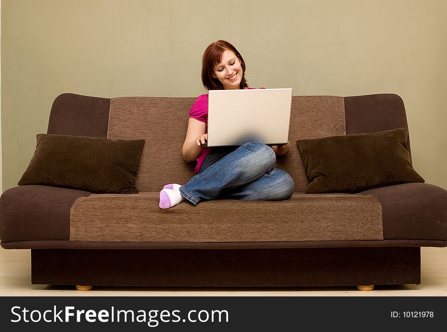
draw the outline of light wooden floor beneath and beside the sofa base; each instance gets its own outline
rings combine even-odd
[[[447,296],[447,248],[421,249],[421,284],[376,286],[362,292],[355,287],[296,288],[148,288],[95,287],[77,291],[74,286],[33,285],[30,251],[0,248],[2,296]]]

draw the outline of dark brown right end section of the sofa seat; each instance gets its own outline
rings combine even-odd
[[[447,239],[447,191],[408,183],[370,189],[382,205],[385,239]]]

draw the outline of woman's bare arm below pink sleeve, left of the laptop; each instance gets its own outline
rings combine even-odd
[[[188,120],[188,130],[182,147],[182,156],[188,163],[196,161],[202,153],[200,144],[205,143],[207,139],[206,125],[204,122],[190,117]]]

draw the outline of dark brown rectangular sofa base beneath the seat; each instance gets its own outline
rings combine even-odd
[[[419,284],[419,247],[33,249],[31,282],[50,285],[284,287]]]

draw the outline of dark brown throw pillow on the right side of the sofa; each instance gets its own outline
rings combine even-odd
[[[408,131],[297,140],[310,184],[306,193],[358,192],[409,182],[424,182],[412,168]]]

